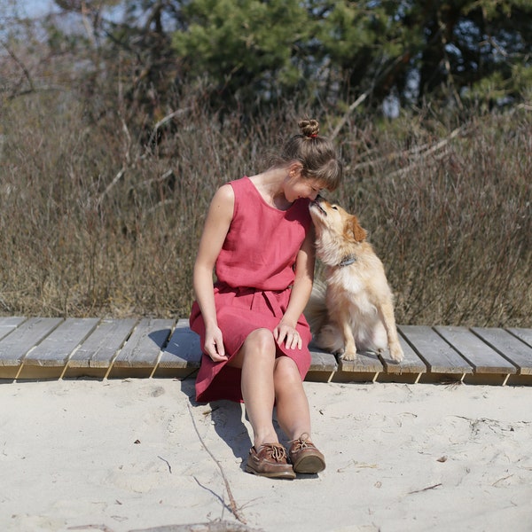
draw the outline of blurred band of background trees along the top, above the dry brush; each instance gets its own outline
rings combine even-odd
[[[479,102],[529,98],[532,4],[523,0],[56,4],[57,15],[4,27],[8,98],[49,81],[54,90],[76,86],[93,120],[120,113],[141,143],[159,142],[152,125],[192,86],[222,119],[286,99],[338,115],[364,94],[367,110],[386,113],[393,101],[403,110],[454,106],[466,117]]]

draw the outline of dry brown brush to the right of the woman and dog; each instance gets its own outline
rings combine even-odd
[[[512,113],[413,145],[387,130],[373,137],[372,165],[342,200],[387,266],[399,323],[530,325],[531,133]]]

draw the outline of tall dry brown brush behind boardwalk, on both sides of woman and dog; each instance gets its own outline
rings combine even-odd
[[[263,168],[271,132],[291,134],[297,114],[221,126],[180,105],[156,153],[119,116],[92,123],[75,101],[4,109],[2,314],[188,316],[215,187]],[[473,118],[452,137],[421,115],[355,123],[337,139],[348,172],[332,198],[370,231],[398,323],[532,326],[529,113]]]

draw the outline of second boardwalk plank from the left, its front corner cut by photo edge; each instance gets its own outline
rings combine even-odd
[[[46,338],[61,322],[60,317],[30,317],[0,340],[0,367],[19,367],[27,352]]]

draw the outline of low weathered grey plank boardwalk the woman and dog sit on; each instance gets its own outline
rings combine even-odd
[[[312,349],[307,380],[532,385],[532,329],[399,326],[404,360],[355,362]],[[0,317],[0,379],[178,378],[200,366],[200,341],[180,319]]]

